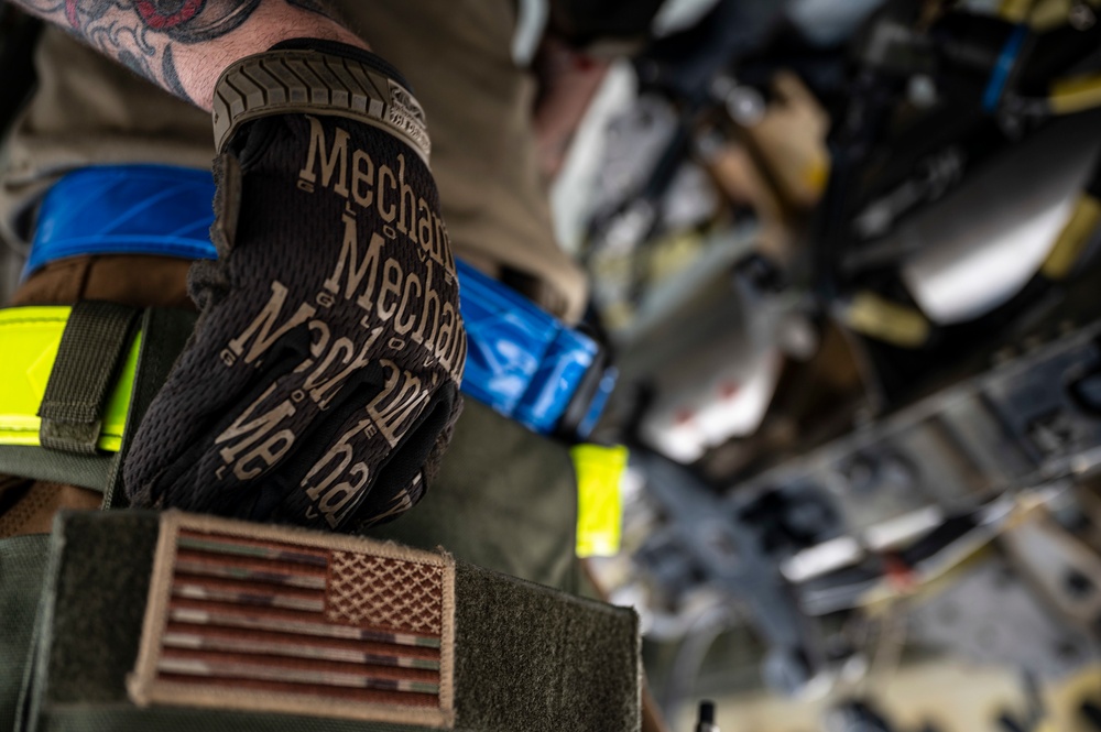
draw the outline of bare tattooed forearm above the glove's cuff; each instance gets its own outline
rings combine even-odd
[[[229,64],[293,37],[367,48],[318,0],[13,0],[210,111]]]

